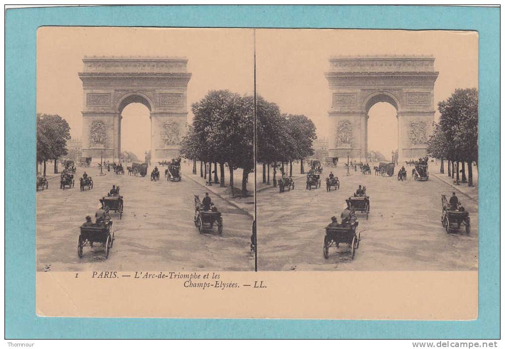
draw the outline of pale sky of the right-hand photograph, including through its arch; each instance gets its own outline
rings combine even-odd
[[[275,101],[282,112],[305,114],[325,128],[331,96],[324,73],[336,55],[433,55],[434,101],[456,88],[478,87],[477,32],[335,29],[258,29],[256,31],[257,93]],[[395,109],[377,103],[369,112],[368,148],[386,157],[397,148]],[[435,114],[435,119],[438,114]]]

